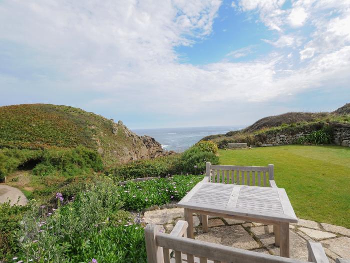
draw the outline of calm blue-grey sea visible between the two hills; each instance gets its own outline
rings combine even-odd
[[[224,134],[245,126],[217,126],[190,128],[133,129],[137,135],[148,135],[157,140],[164,150],[182,152],[201,138],[212,134]]]

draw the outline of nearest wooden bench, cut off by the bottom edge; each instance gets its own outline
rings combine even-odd
[[[170,234],[161,225],[144,229],[148,263],[305,263],[305,261],[209,243],[186,237],[188,223],[177,221]],[[307,242],[308,261],[329,263],[320,243]],[[172,253],[172,250],[174,251]],[[341,259],[340,259],[341,260]],[[337,259],[337,262],[342,262]]]

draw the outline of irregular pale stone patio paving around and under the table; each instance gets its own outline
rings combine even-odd
[[[147,211],[142,222],[161,224],[170,232],[178,220],[183,220],[183,208]],[[272,226],[209,216],[209,232],[204,233],[196,215],[193,215],[193,222],[195,239],[279,255]],[[306,241],[320,242],[330,263],[336,257],[350,258],[350,229],[345,227],[298,219],[298,223],[290,224],[289,237],[291,258],[307,261]]]

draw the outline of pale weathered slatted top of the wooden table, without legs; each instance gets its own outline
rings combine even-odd
[[[297,223],[288,196],[282,188],[199,182],[177,205],[202,211],[200,214],[213,212],[256,220]]]

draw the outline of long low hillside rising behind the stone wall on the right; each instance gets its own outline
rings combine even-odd
[[[214,134],[202,140],[211,140],[220,148],[227,143],[246,142],[248,145],[256,143],[255,135],[268,135],[275,133],[297,133],[302,130],[314,131],[322,127],[335,125],[350,126],[350,103],[339,109],[329,112],[288,112],[276,116],[262,118],[245,129],[230,131],[226,134]]]

